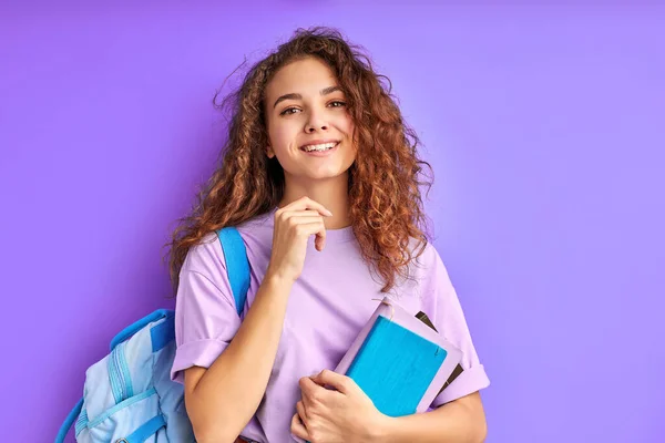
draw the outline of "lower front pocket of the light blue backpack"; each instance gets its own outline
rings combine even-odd
[[[160,398],[151,388],[121,401],[86,423],[78,422],[76,442],[166,443],[165,426]]]

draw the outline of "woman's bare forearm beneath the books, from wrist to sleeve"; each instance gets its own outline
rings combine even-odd
[[[386,443],[480,443],[487,423],[478,392],[447,403],[433,411],[387,418],[377,441]]]

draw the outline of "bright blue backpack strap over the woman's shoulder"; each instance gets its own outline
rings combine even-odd
[[[242,316],[249,289],[249,260],[247,249],[241,233],[234,227],[225,227],[217,231],[222,243],[222,251],[226,260],[226,272],[231,282],[231,290],[236,303],[238,316]]]

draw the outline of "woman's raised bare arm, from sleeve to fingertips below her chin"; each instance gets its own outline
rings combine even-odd
[[[277,210],[270,264],[245,320],[209,368],[185,370],[185,408],[198,443],[234,442],[258,409],[307,240],[316,235],[316,248],[324,249],[323,216],[329,214],[306,197]]]

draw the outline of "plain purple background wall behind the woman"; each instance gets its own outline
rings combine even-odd
[[[113,334],[173,307],[162,245],[214,168],[215,89],[330,24],[427,146],[488,442],[663,441],[663,7],[18,3],[0,7],[3,440],[52,441]]]

